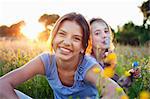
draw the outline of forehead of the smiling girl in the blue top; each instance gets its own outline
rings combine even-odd
[[[77,35],[83,34],[81,26],[76,21],[69,21],[69,20],[63,21],[60,24],[58,31],[59,30],[63,30],[64,32],[77,34]]]

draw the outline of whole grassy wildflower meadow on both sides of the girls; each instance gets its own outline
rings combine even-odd
[[[27,63],[43,51],[48,51],[44,42],[33,41],[0,41],[0,76]],[[138,61],[141,77],[134,79],[127,90],[128,96],[139,98],[141,91],[150,92],[150,50],[149,47],[116,46],[118,64],[117,74],[122,76],[126,70],[132,68],[132,63]],[[52,99],[53,92],[44,76],[37,75],[17,87],[20,91],[35,99]]]

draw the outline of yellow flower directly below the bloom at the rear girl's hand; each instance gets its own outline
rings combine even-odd
[[[115,71],[111,67],[105,67],[103,73],[104,73],[104,77],[112,78],[114,76]]]

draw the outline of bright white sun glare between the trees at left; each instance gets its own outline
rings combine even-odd
[[[21,32],[31,40],[36,40],[38,34],[42,31],[44,31],[44,26],[39,22],[26,23],[21,29]]]

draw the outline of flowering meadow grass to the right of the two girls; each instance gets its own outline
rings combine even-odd
[[[137,61],[141,70],[141,77],[133,79],[131,86],[126,89],[130,99],[139,97],[142,90],[150,91],[150,52],[148,48],[117,45],[118,64],[116,72],[119,76],[132,69],[132,63]]]

